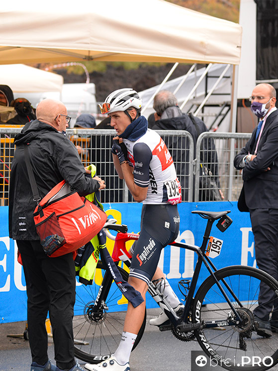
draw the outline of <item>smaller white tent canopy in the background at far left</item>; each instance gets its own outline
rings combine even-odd
[[[13,93],[61,92],[64,78],[24,64],[0,65],[0,84]]]

